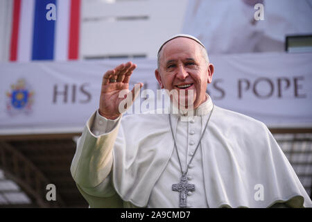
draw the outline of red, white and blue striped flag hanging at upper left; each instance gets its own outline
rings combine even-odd
[[[14,0],[10,61],[76,60],[79,29],[80,0]]]

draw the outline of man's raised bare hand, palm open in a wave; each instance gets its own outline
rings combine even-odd
[[[100,108],[98,109],[101,116],[107,119],[117,119],[122,112],[119,108],[121,101],[128,98],[128,103],[126,103],[127,105],[124,107],[125,109],[133,103],[135,97],[139,94],[139,90],[135,90],[135,87],[133,87],[132,91],[130,91],[129,80],[136,67],[137,65],[132,62],[127,62],[112,70],[106,71],[103,76]],[[140,89],[142,86],[143,83],[139,83]]]

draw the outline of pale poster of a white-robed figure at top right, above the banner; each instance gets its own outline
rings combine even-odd
[[[285,51],[287,35],[311,35],[311,20],[312,0],[189,0],[182,32],[211,54]]]

